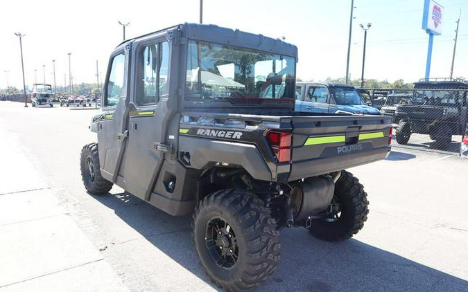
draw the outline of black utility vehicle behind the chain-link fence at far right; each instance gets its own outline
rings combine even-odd
[[[440,147],[447,147],[452,135],[463,135],[467,116],[468,82],[435,78],[415,82],[408,104],[399,104],[397,143],[405,145],[411,134],[428,134]]]

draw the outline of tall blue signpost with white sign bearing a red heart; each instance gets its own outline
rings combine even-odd
[[[432,58],[432,45],[434,42],[434,35],[442,35],[442,26],[444,16],[444,7],[434,0],[424,1],[424,12],[422,15],[422,29],[426,30],[429,35],[429,43],[427,47],[426,59],[426,73],[424,79],[428,80],[431,73],[431,58]]]

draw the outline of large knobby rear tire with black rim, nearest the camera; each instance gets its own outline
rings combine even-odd
[[[245,190],[220,190],[200,201],[193,240],[200,264],[227,291],[265,282],[279,259],[279,232],[263,201]]]

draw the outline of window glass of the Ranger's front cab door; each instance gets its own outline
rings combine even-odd
[[[122,95],[123,79],[125,71],[125,53],[116,55],[112,59],[112,67],[110,69],[109,82],[105,95],[105,107],[112,107],[119,102]]]

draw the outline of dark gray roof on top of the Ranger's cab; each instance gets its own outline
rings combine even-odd
[[[246,33],[238,29],[233,30],[231,28],[222,28],[214,24],[177,24],[162,30],[157,30],[153,33],[148,33],[133,39],[128,39],[125,42],[119,44],[119,46],[133,42],[136,39],[162,33],[166,30],[179,30],[182,35],[188,39],[251,48],[252,50],[266,51],[269,53],[295,57],[297,60],[297,47],[293,44],[283,42],[281,39],[265,37],[264,35]]]

